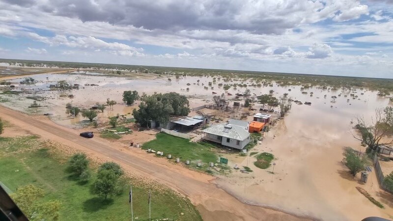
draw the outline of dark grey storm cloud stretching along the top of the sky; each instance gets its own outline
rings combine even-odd
[[[295,8],[293,2],[286,5],[285,1],[247,0],[48,0],[37,1],[34,7],[83,22],[108,22],[148,30],[246,30],[256,34],[280,34],[286,28],[299,25],[303,18],[272,14],[303,13],[312,10],[310,4],[316,4],[307,0],[298,1],[302,3],[296,4]],[[32,0],[6,2],[24,7],[30,6]],[[272,8],[274,11],[271,11]]]

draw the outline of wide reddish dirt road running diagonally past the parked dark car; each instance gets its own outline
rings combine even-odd
[[[86,139],[79,132],[61,127],[50,120],[31,117],[18,111],[0,107],[0,116],[10,123],[25,128],[43,138],[51,139],[100,158],[117,162],[136,173],[156,179],[172,189],[185,194],[197,206],[206,221],[253,221],[253,220],[309,220],[280,211],[248,205],[240,202],[216,185],[209,182],[211,176],[186,168],[172,168],[138,157],[138,154],[121,151],[124,146],[102,138]],[[262,195],[260,197],[263,197]]]

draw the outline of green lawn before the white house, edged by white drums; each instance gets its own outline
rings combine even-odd
[[[142,149],[147,150],[151,148],[155,151],[163,151],[165,156],[172,155],[173,161],[179,157],[181,162],[190,160],[190,166],[197,167],[197,162],[200,161],[202,166],[200,168],[206,169],[209,162],[217,162],[218,156],[212,151],[214,148],[210,144],[200,144],[190,142],[189,139],[178,138],[165,133],[156,135],[156,139],[143,144]],[[199,168],[199,167],[198,167]]]

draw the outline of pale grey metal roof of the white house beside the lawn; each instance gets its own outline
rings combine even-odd
[[[226,123],[213,125],[202,132],[237,140],[245,140],[250,136],[250,133],[242,126]]]

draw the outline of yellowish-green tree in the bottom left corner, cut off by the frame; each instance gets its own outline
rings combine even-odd
[[[30,220],[41,221],[43,219],[58,219],[60,202],[54,200],[41,203],[40,199],[44,196],[44,190],[39,187],[32,184],[19,187],[17,191],[11,193],[10,196]]]

